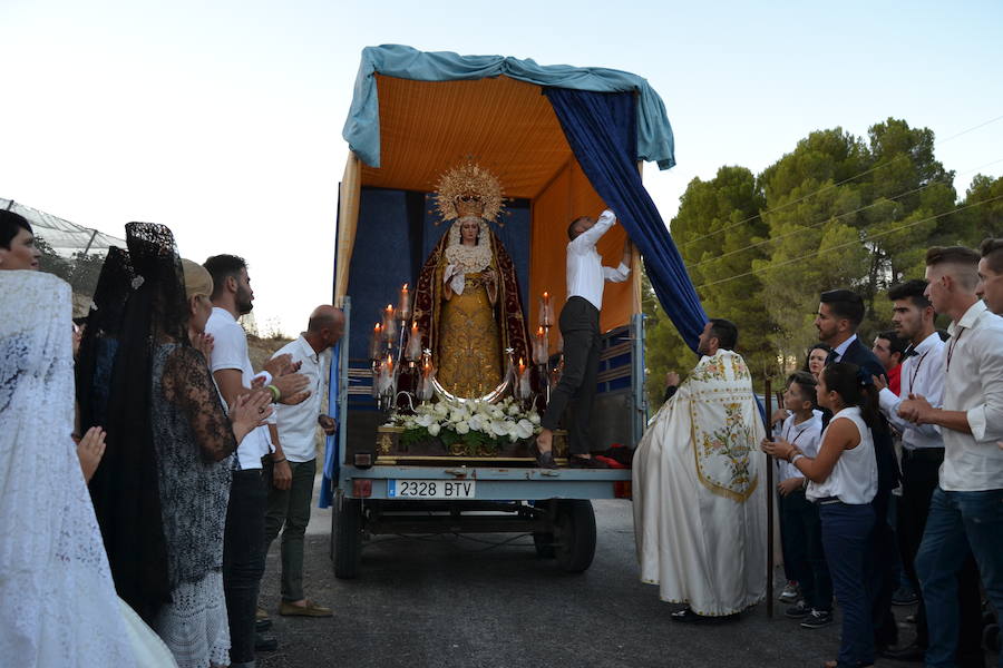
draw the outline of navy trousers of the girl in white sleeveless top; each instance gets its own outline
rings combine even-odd
[[[838,666],[869,666],[874,664],[874,625],[865,561],[874,529],[874,508],[836,502],[820,504],[818,514],[832,589],[843,609]]]

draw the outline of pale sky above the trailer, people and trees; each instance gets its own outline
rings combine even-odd
[[[1003,174],[1003,3],[0,0],[0,197],[251,265],[260,325],[331,298],[341,139],[363,47],[623,69],[662,96],[678,166],[753,171],[815,129],[932,128],[965,187]],[[444,168],[447,167],[444,165]]]

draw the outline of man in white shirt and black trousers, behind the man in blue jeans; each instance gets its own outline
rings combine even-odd
[[[902,386],[898,393],[880,389],[882,413],[902,433],[902,498],[898,500],[898,547],[903,568],[918,591],[915,559],[923,530],[929,514],[929,499],[937,487],[937,471],[944,461],[944,440],[933,425],[914,424],[898,416],[898,406],[911,394],[927,397],[933,405],[941,405],[944,395],[944,355],[947,346],[934,325],[934,308],[924,296],[926,281],[906,281],[888,291],[892,301],[892,324],[895,332],[912,345],[913,354],[902,364]],[[962,610],[962,637],[958,639],[957,662],[961,668],[984,665],[981,633],[981,598],[978,571],[974,559],[968,559],[958,573]],[[928,645],[926,606],[922,595],[916,610],[916,639],[912,645],[888,652],[894,659],[923,661]]]

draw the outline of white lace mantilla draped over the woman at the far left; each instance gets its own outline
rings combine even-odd
[[[0,272],[0,661],[135,666],[70,433],[70,287]]]

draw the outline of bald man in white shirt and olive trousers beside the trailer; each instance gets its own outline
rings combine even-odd
[[[309,379],[310,397],[296,405],[280,405],[275,424],[269,429],[272,442],[281,445],[292,472],[291,480],[273,480],[272,464],[265,462],[269,510],[265,517],[265,553],[282,531],[282,603],[280,615],[331,617],[331,608],[319,606],[303,595],[303,534],[310,522],[313,479],[317,474],[317,426],[334,433],[334,421],[321,414],[328,381],[330,355],[325,354],[344,332],[344,314],[333,306],[313,310],[306,331],[275,355],[290,355],[300,363],[300,373]]]

